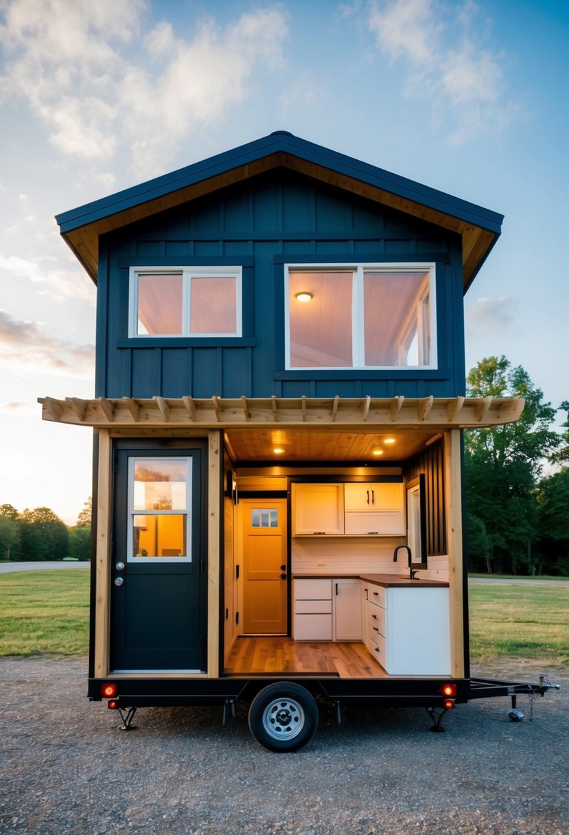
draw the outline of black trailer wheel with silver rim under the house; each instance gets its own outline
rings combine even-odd
[[[314,696],[292,681],[264,687],[249,708],[251,733],[269,751],[298,751],[312,739],[317,726]]]

